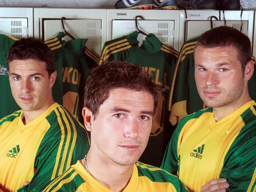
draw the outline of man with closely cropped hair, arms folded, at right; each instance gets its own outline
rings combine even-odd
[[[209,108],[180,120],[161,168],[190,191],[254,191],[256,103],[249,38],[221,26],[204,33],[194,51],[195,81]]]

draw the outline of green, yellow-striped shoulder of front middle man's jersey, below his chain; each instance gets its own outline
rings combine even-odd
[[[48,183],[43,192],[55,192],[58,190],[69,192],[70,189],[75,191],[82,183],[85,183],[85,181],[74,168],[70,167],[65,173]]]

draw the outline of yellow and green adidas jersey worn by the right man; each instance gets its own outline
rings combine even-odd
[[[245,103],[215,121],[213,109],[188,115],[178,123],[161,168],[178,174],[191,192],[211,179],[226,178],[226,191],[256,190],[256,103]]]

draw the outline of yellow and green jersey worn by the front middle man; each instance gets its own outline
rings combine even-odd
[[[100,184],[78,161],[64,174],[52,180],[43,192],[112,192]],[[178,177],[160,168],[137,162],[133,166],[132,176],[123,192],[187,192]]]

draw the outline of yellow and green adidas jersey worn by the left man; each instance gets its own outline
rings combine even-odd
[[[0,120],[0,188],[37,189],[63,174],[89,150],[85,128],[58,103],[24,125],[22,110]]]

